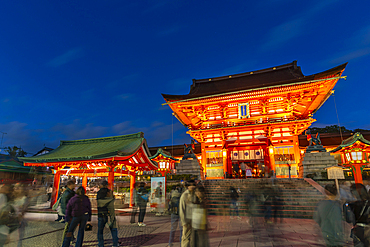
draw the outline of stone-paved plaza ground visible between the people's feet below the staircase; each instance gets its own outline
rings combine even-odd
[[[148,214],[144,220],[146,227],[130,225],[129,216],[118,216],[119,239],[121,246],[151,246],[165,247],[168,244],[171,220],[169,216],[156,217]],[[58,247],[62,243],[64,225],[55,222],[55,214],[28,213],[26,214],[27,227],[23,240],[25,247]],[[217,247],[262,247],[262,246],[325,246],[317,224],[310,219],[283,219],[279,223],[265,223],[262,218],[254,218],[250,224],[246,217],[241,220],[230,219],[228,216],[209,216],[210,246]],[[85,232],[83,246],[97,245],[97,216],[92,219],[93,231]],[[349,238],[350,227],[347,223],[346,239],[353,246]],[[106,246],[111,246],[109,230],[104,230]],[[7,247],[17,246],[17,233],[13,233],[13,242]],[[179,247],[179,231],[175,236],[174,247]]]

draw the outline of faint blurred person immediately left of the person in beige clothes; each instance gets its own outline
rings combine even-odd
[[[171,231],[170,231],[170,239],[168,241],[168,247],[172,246],[172,243],[175,238],[175,232],[177,230],[177,226],[180,229],[180,245],[181,245],[181,238],[182,238],[182,225],[179,216],[179,206],[180,206],[180,188],[176,187],[171,193],[171,200],[170,200],[170,211],[171,211]]]

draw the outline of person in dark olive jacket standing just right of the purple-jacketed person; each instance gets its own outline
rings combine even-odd
[[[104,226],[108,224],[113,239],[113,247],[118,244],[117,221],[114,211],[114,196],[113,192],[108,189],[108,182],[103,180],[100,183],[100,190],[96,196],[98,203],[98,246],[104,247]]]

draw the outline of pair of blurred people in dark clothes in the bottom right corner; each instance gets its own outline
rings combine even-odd
[[[352,226],[350,237],[355,247],[370,246],[369,188],[346,182],[340,189],[328,184],[325,192],[326,199],[319,202],[314,219],[327,246],[346,246],[343,220]]]

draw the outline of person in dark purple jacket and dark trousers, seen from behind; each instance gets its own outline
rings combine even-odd
[[[91,203],[90,199],[85,194],[85,188],[82,186],[78,187],[76,194],[68,201],[66,221],[69,222],[70,225],[62,247],[70,246],[73,232],[78,225],[79,228],[75,247],[82,246],[85,226],[88,221],[91,221]]]

